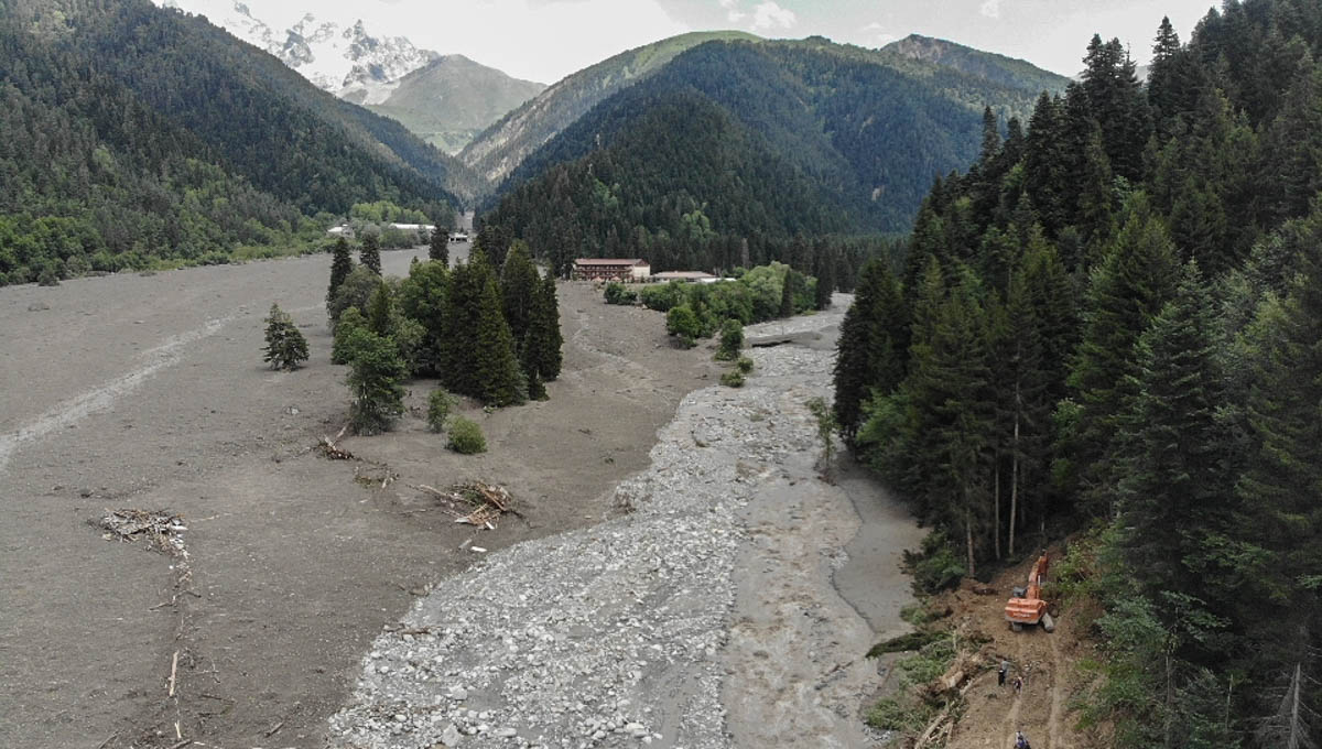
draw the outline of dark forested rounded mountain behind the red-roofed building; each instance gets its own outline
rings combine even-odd
[[[821,37],[710,41],[529,155],[484,231],[653,260],[730,236],[903,231],[935,178],[977,159],[984,106],[1026,122],[1038,95]]]

